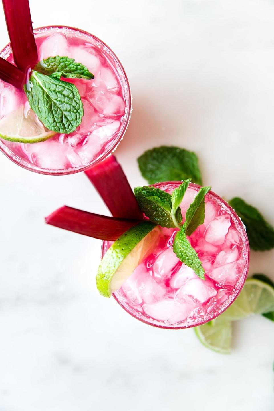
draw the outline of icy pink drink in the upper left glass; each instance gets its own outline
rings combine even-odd
[[[94,80],[66,79],[82,97],[84,116],[71,134],[56,134],[32,144],[0,139],[0,150],[16,164],[42,174],[70,174],[83,171],[106,157],[121,141],[131,112],[127,76],[113,51],[101,40],[69,27],[34,30],[39,60],[64,55],[84,64]],[[14,63],[8,45],[0,56]],[[28,113],[23,91],[0,80],[0,119],[21,105]]]

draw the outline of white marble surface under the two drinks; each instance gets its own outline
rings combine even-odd
[[[90,31],[122,60],[134,109],[116,155],[133,187],[138,155],[179,145],[206,185],[274,224],[273,1],[30,5],[34,26]],[[0,23],[4,45],[2,11]],[[140,323],[97,293],[100,241],[44,224],[63,204],[107,213],[85,175],[39,175],[1,154],[0,187],[0,411],[274,409],[273,323],[235,324],[230,356],[191,329]],[[273,262],[252,252],[250,273],[274,279]]]

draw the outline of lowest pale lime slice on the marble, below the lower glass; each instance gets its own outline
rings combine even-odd
[[[194,328],[200,342],[207,348],[221,354],[230,354],[232,326],[230,321],[220,317]]]

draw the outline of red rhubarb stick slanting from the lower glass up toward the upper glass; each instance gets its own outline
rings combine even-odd
[[[113,217],[142,220],[143,213],[137,203],[127,177],[114,155],[85,171]]]

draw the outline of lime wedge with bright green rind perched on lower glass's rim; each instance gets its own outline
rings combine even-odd
[[[134,269],[158,244],[161,231],[156,224],[143,221],[119,237],[104,255],[99,266],[96,283],[100,294],[112,293],[132,274]]]

